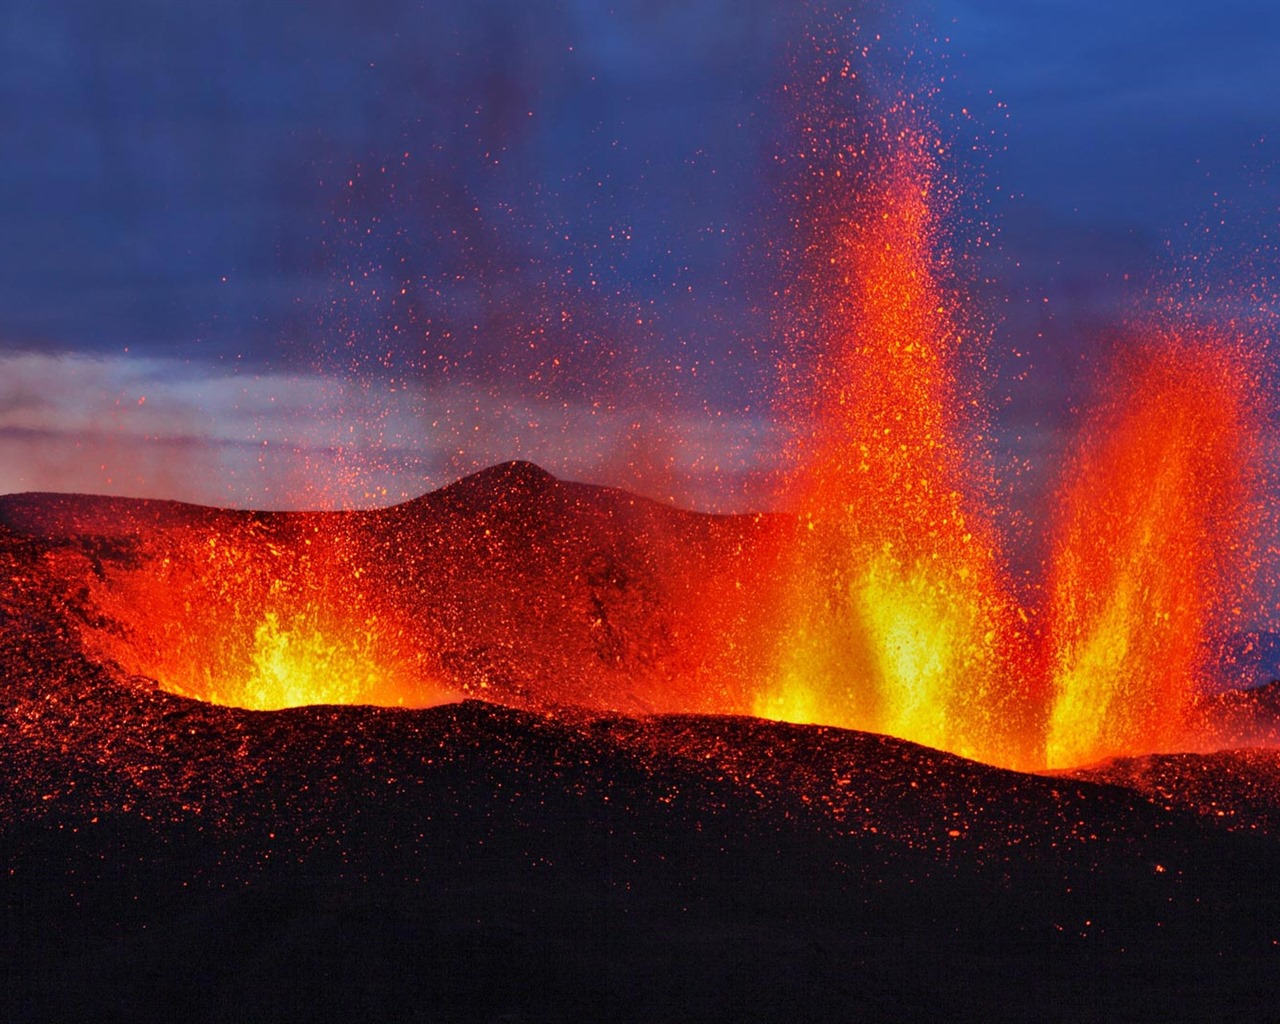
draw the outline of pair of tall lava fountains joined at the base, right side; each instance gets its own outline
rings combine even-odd
[[[942,146],[890,113],[887,156],[836,150],[861,192],[823,221],[799,525],[759,585],[751,712],[1015,768],[1213,742],[1194,709],[1254,561],[1257,360],[1225,330],[1134,334],[1085,417],[1024,607],[959,379]]]

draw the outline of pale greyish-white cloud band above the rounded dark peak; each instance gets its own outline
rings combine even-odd
[[[723,512],[768,503],[782,442],[778,428],[749,415],[663,413],[474,383],[0,356],[0,492],[349,508],[526,458],[563,477]]]

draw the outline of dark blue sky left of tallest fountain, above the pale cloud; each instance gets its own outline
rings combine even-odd
[[[401,369],[430,372],[430,329],[433,356],[483,374],[535,332],[554,329],[561,355],[620,325],[620,348],[664,355],[719,344],[726,315],[741,333],[724,279],[771,204],[785,9],[0,17],[3,344],[328,364],[358,334],[358,357],[389,342]],[[393,308],[379,284],[407,294]]]

